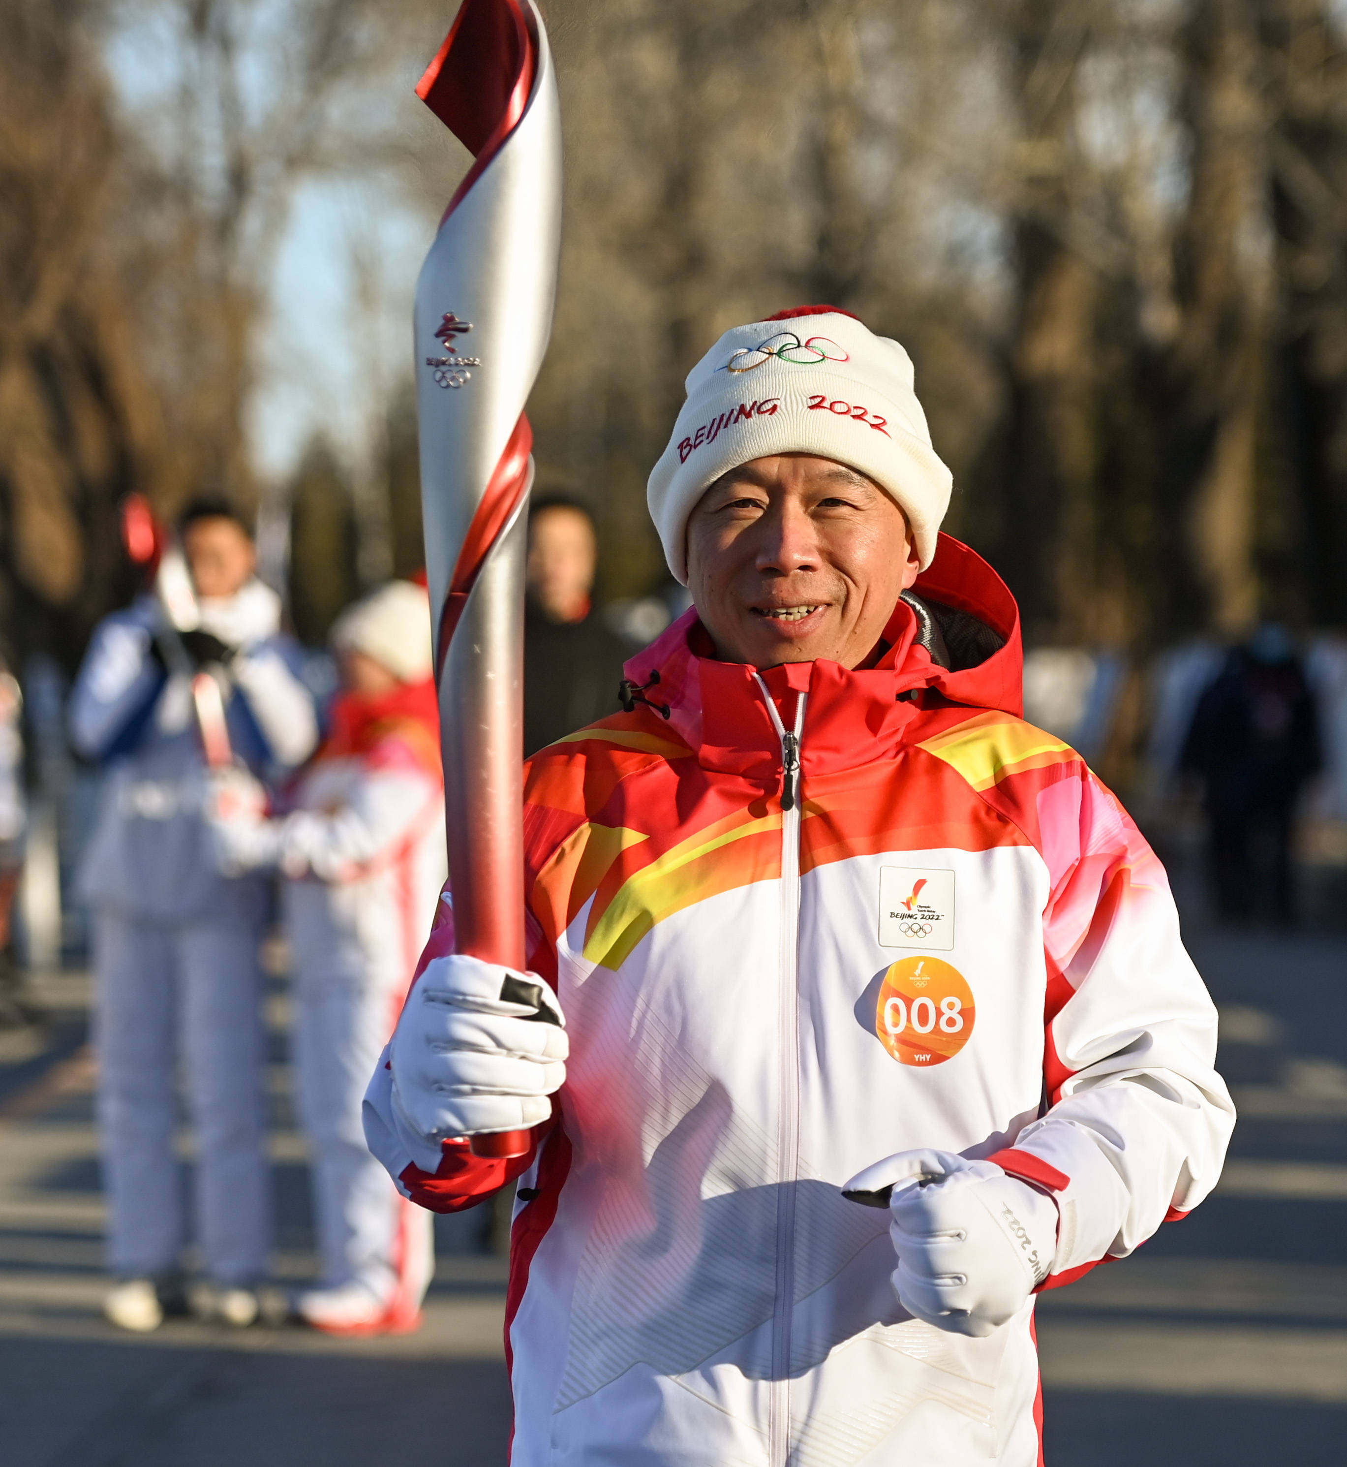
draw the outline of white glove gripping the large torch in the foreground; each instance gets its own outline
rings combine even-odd
[[[389,1046],[393,1119],[412,1156],[436,1155],[449,1137],[546,1121],[566,1078],[565,1022],[536,973],[464,954],[430,962]]]

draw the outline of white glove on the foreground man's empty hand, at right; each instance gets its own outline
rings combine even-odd
[[[842,1193],[888,1203],[898,1253],[894,1292],[936,1329],[990,1335],[1052,1270],[1056,1203],[993,1162],[898,1152],[858,1172]]]

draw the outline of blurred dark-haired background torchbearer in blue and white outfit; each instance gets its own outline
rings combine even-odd
[[[141,528],[153,537],[153,524]],[[207,776],[230,760],[255,773],[292,769],[317,736],[280,601],[254,575],[248,528],[226,502],[198,500],[179,537],[182,559],[161,555],[154,590],[97,626],[69,713],[76,750],[107,769],[81,885],[94,910],[98,1119],[109,1262],[120,1279],[106,1310],[126,1329],[154,1329],[182,1297],[179,1046],[198,1143],[207,1281],[197,1298],[229,1323],[258,1311],[254,1285],[270,1247],[266,885],[217,871]]]

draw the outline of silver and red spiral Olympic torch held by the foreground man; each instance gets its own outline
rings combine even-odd
[[[455,942],[524,967],[524,403],[552,333],[561,114],[533,0],[464,0],[417,94],[474,154],[415,302],[421,512]],[[527,1131],[472,1137],[519,1156]]]

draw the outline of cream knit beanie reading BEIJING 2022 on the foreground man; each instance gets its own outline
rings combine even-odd
[[[952,480],[897,342],[831,305],[801,307],[726,332],[688,373],[687,393],[646,486],[679,582],[688,516],[707,486],[773,453],[816,453],[875,480],[907,515],[921,569],[930,565]]]

